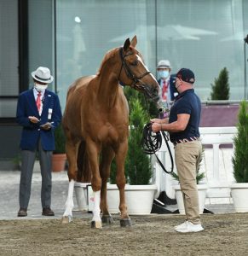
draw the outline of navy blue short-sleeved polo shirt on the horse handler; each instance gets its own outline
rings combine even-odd
[[[190,137],[199,137],[199,119],[201,113],[201,103],[199,96],[194,93],[193,89],[184,90],[176,97],[176,101],[170,108],[169,123],[177,120],[177,114],[190,114],[187,127],[184,131],[170,132],[170,142],[175,143],[180,139]]]

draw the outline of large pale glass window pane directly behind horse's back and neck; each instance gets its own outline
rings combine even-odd
[[[152,3],[151,3],[152,2]],[[126,38],[138,39],[137,49],[155,71],[155,6],[146,0],[56,1],[57,88],[62,107],[68,86],[95,74],[109,49]]]

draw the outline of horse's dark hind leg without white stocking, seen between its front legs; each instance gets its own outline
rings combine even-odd
[[[108,212],[107,207],[107,179],[110,174],[110,166],[112,159],[114,157],[114,152],[112,148],[102,148],[101,155],[101,165],[100,165],[100,174],[101,174],[101,221],[104,224],[112,224],[112,216]]]

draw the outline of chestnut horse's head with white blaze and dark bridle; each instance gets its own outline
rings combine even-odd
[[[148,70],[141,54],[136,50],[136,36],[131,40],[126,39],[124,47],[119,49],[122,67],[119,80],[122,84],[130,85],[136,90],[141,90],[154,102],[159,100],[159,84],[153,74]]]

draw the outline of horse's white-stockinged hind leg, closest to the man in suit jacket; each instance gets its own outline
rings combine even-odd
[[[69,178],[69,187],[68,187],[68,195],[66,200],[66,210],[61,219],[62,224],[68,224],[72,221],[72,209],[74,207],[73,204],[73,190],[74,183],[77,178],[77,156],[78,156],[78,143],[73,143],[70,137],[67,137],[66,140],[66,156],[68,160],[68,178]]]

